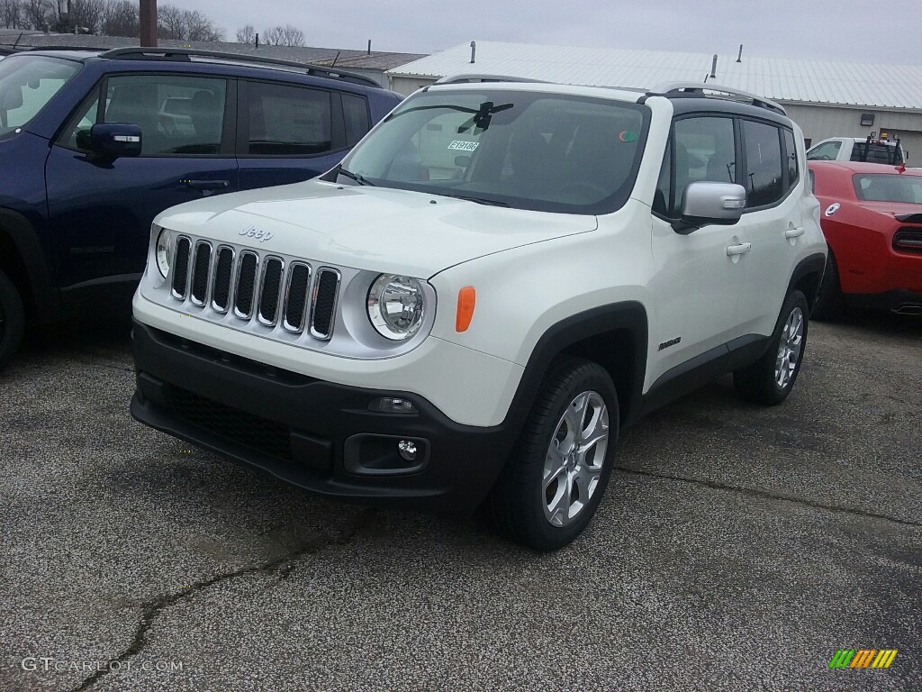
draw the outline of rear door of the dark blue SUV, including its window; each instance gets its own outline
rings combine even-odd
[[[241,81],[238,117],[242,189],[325,173],[371,127],[364,95],[253,79]]]

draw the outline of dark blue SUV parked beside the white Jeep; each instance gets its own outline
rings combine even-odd
[[[27,316],[127,313],[158,212],[324,173],[400,98],[334,68],[193,50],[0,60],[0,368]]]

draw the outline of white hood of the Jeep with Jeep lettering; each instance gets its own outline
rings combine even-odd
[[[155,222],[217,242],[422,279],[461,262],[597,227],[596,217],[311,180],[189,202]],[[272,233],[265,242],[241,232]]]

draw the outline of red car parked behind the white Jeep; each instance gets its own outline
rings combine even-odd
[[[922,170],[810,161],[829,259],[813,316],[844,305],[922,315]]]

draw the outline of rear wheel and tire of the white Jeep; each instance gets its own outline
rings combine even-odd
[[[800,291],[787,295],[768,351],[733,373],[733,385],[745,400],[767,406],[781,403],[794,388],[807,345],[810,306]]]

